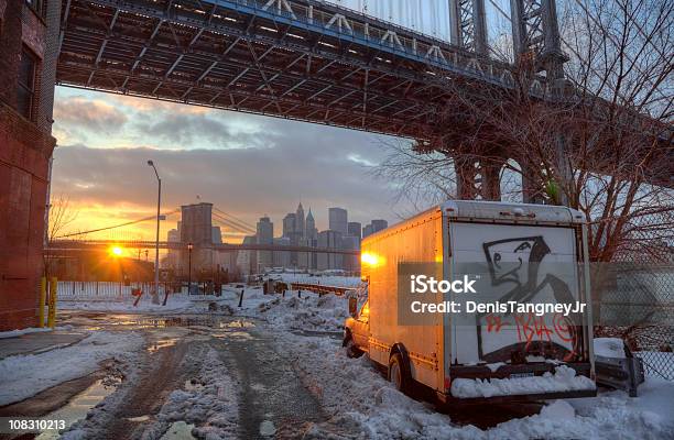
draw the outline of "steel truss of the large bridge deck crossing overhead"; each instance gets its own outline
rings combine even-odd
[[[474,1],[483,10],[459,3]],[[57,82],[420,138],[448,81],[513,85],[483,33],[466,35],[448,44],[313,0],[65,0]]]

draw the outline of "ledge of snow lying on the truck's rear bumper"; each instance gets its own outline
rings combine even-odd
[[[576,371],[566,365],[555,369],[542,376],[470,380],[456,378],[452,382],[452,395],[461,398],[515,396],[581,389],[595,389],[595,382],[589,377],[576,375]]]

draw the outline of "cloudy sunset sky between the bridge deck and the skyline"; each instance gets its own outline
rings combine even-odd
[[[385,154],[380,135],[63,87],[54,120],[52,196],[77,212],[69,230],[152,216],[156,179],[148,160],[162,177],[163,211],[199,196],[252,224],[267,213],[276,234],[300,199],[318,229],[327,228],[331,206],[363,223],[395,221],[406,209],[393,205],[390,183],[369,174]],[[152,228],[127,228],[122,238],[149,239]]]

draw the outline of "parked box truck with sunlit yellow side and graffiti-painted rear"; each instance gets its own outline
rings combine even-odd
[[[400,391],[442,402],[596,395],[583,219],[565,207],[456,200],[363,239],[368,295],[359,310],[350,304],[347,354],[368,353]],[[411,293],[415,268],[477,294]]]

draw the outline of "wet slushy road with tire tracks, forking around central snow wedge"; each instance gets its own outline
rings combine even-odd
[[[253,320],[221,316],[156,318],[134,315],[70,314],[64,323],[107,331],[143,331],[146,350],[137,360],[133,383],[122,383],[118,405],[95,411],[106,438],[156,438],[157,415],[174,389],[198,376],[209,349],[239,383],[240,439],[296,439],[325,421],[320,404],[278,353],[273,334]],[[88,420],[87,420],[88,422]],[[87,425],[85,422],[85,425]],[[105,428],[102,428],[105,427]],[[164,430],[166,426],[161,426]]]

